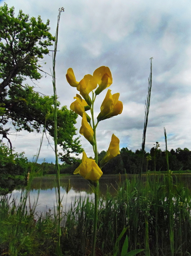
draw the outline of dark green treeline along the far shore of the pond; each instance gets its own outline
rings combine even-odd
[[[137,174],[140,172],[142,165],[142,151],[136,150],[132,152],[128,148],[122,148],[120,150],[120,155],[111,159],[103,168],[104,174],[117,174],[124,173],[125,171],[129,174]],[[98,162],[102,160],[106,151],[98,153]],[[150,159],[150,160],[149,160]],[[176,150],[171,149],[168,151],[168,160],[170,170],[190,170],[191,169],[191,151],[187,148]],[[72,174],[74,170],[80,165],[81,159],[77,159],[72,165],[60,164],[60,173],[70,173]],[[43,175],[55,174],[55,165],[53,163],[42,163],[37,164],[37,169]],[[166,171],[166,152],[161,151],[157,147],[153,147],[150,153],[144,152],[143,161],[143,172],[146,170],[150,171]]]

